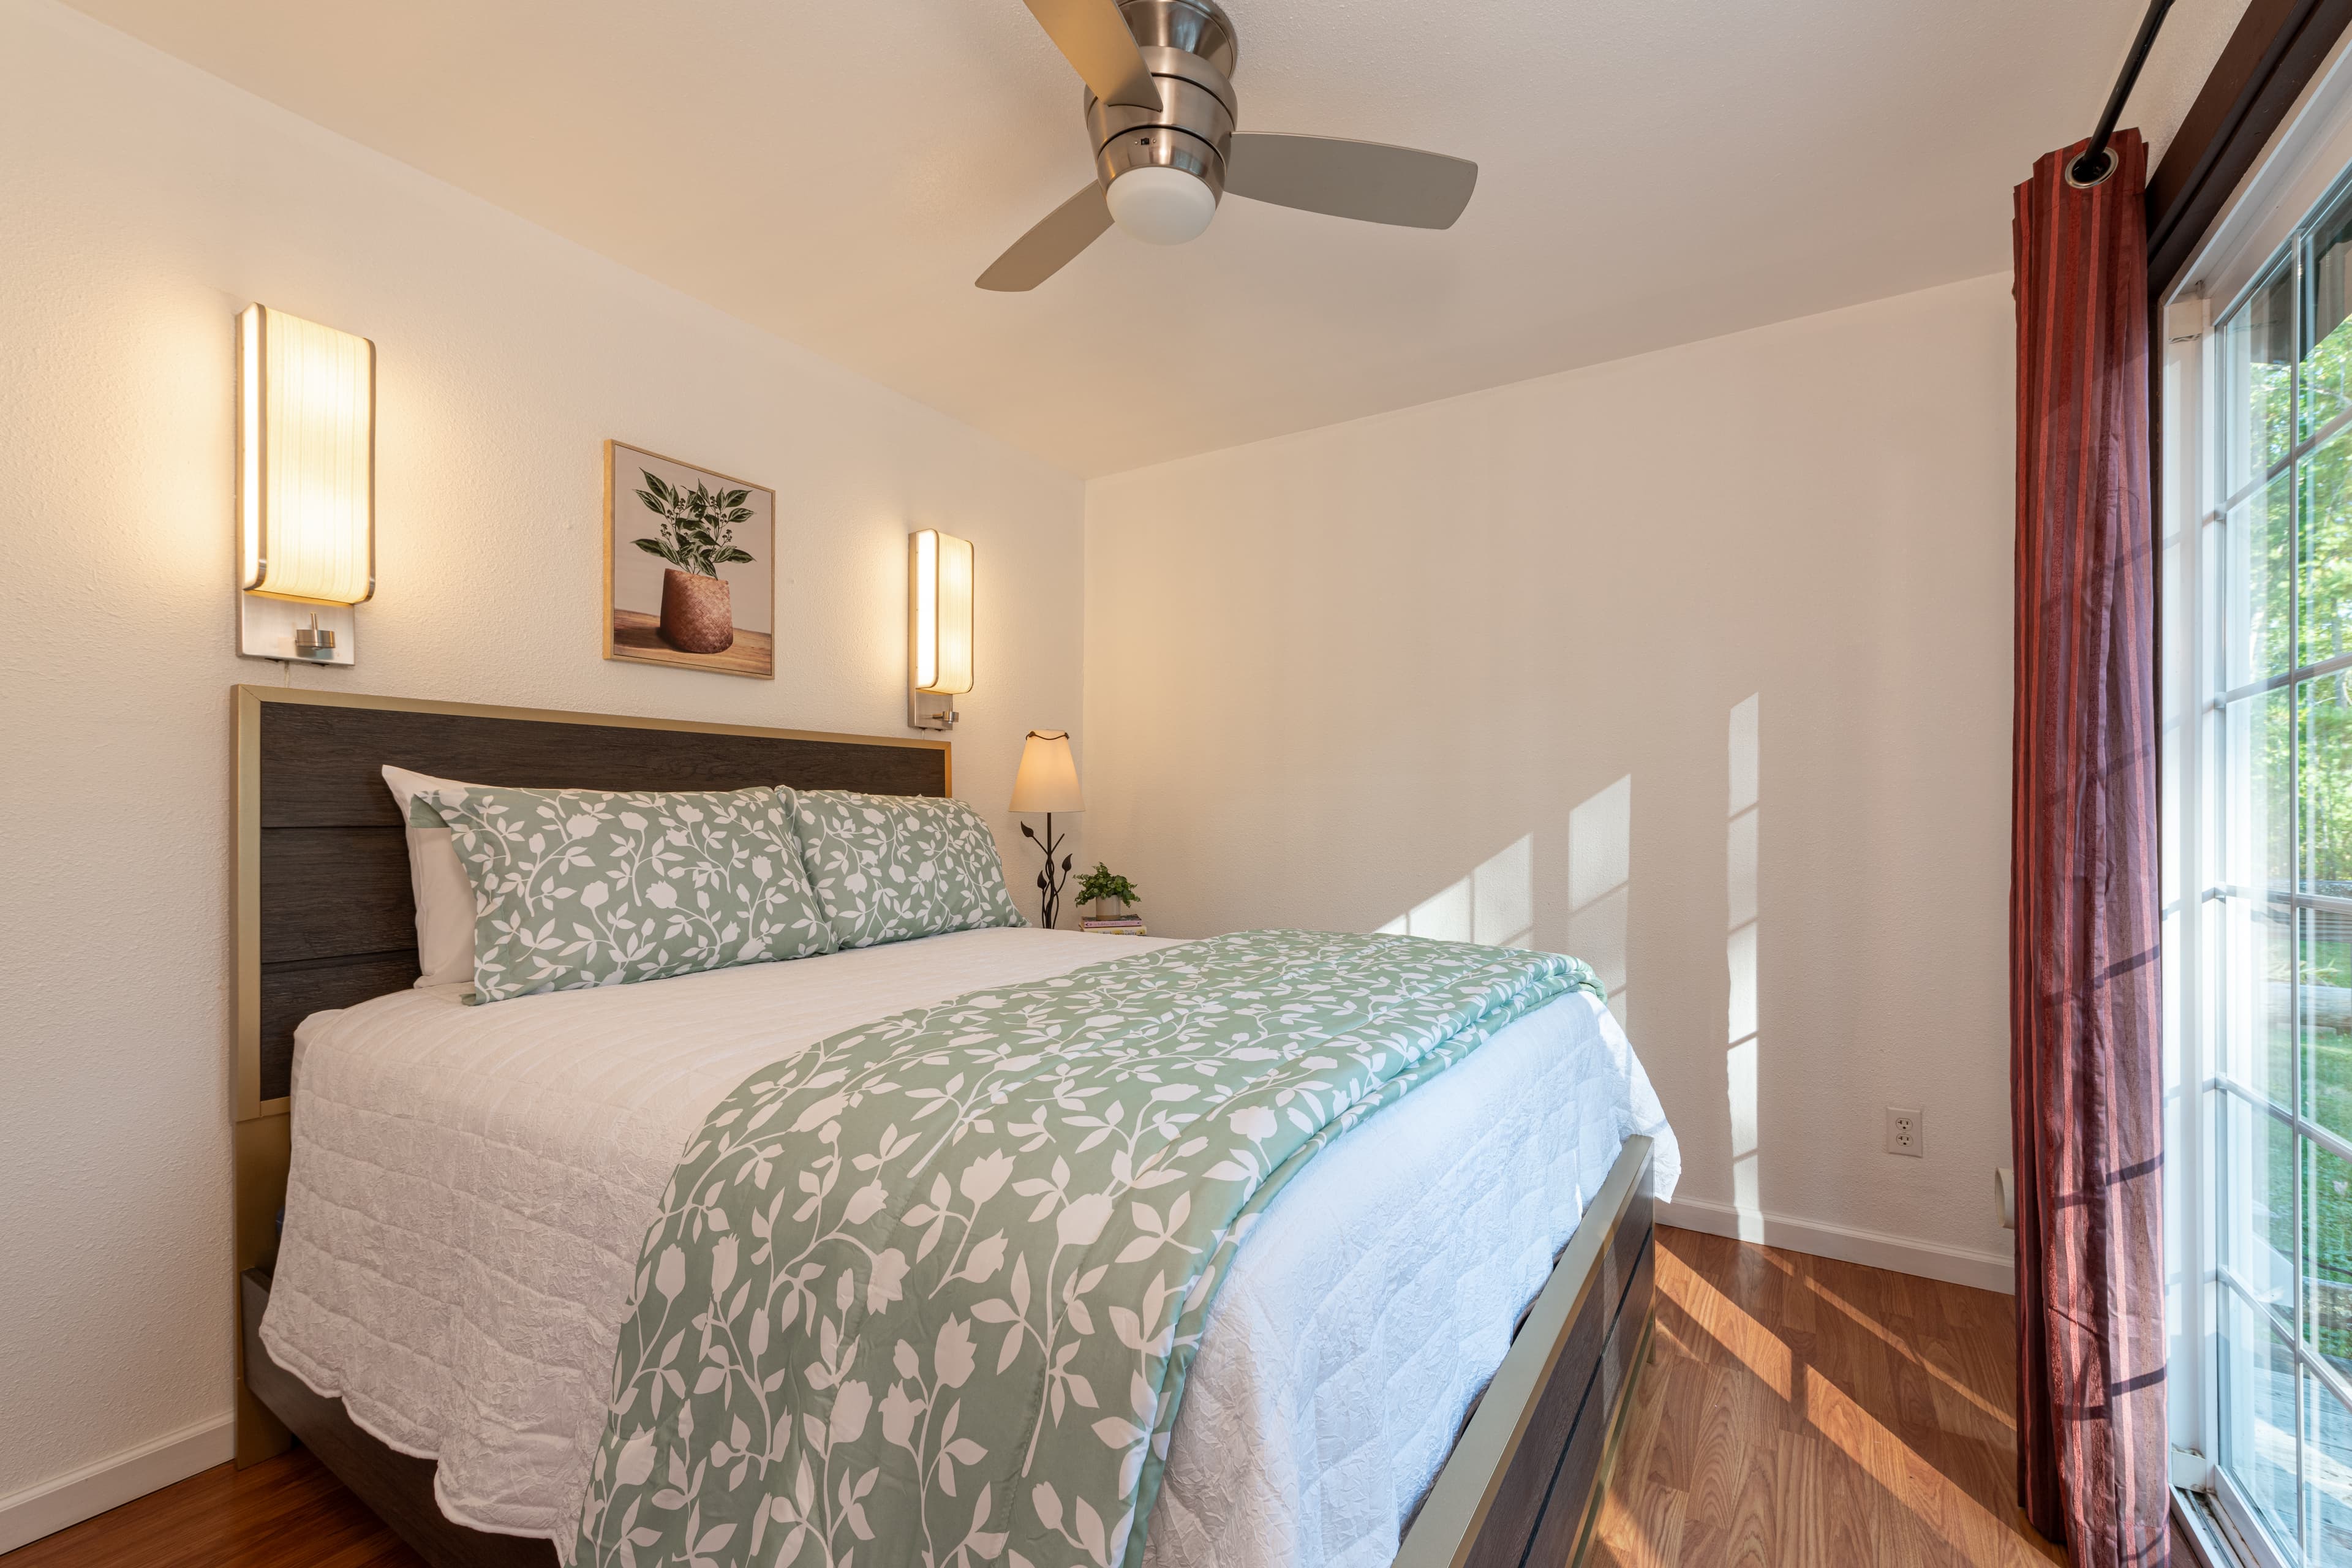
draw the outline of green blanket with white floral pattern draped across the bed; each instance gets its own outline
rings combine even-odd
[[[595,1568],[1136,1568],[1251,1218],[1576,959],[1247,931],[753,1074],[677,1164],[574,1544]]]

